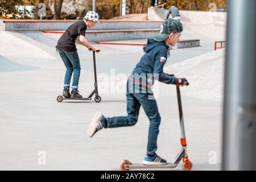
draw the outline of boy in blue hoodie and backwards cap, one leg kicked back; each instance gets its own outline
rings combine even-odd
[[[183,31],[183,27],[180,22],[174,19],[167,19],[160,26],[160,34],[155,39],[148,39],[147,46],[143,48],[146,53],[127,81],[127,116],[106,118],[100,112],[97,112],[88,128],[89,137],[93,137],[103,127],[107,129],[134,126],[138,121],[139,109],[142,106],[148,119],[150,119],[147,154],[144,157],[143,164],[163,165],[167,163],[166,160],[156,154],[156,140],[159,134],[161,118],[154,95],[151,92],[151,80],[156,79],[166,84],[181,86],[187,81],[185,78],[176,78],[174,75],[163,73],[163,67],[168,56],[168,48],[179,42],[181,31]]]

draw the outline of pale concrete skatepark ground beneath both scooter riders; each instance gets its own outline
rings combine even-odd
[[[185,30],[184,30],[185,31]],[[0,31],[0,169],[3,170],[119,170],[123,159],[141,163],[146,154],[149,121],[141,109],[137,125],[103,129],[93,138],[87,128],[96,111],[107,117],[126,115],[125,94],[112,92],[106,83],[122,85],[143,55],[142,47],[100,47],[96,54],[100,104],[63,101],[65,67],[55,53],[60,35],[40,31]],[[123,42],[142,43],[146,40]],[[205,36],[201,47],[174,49],[165,72],[186,77],[191,85],[181,88],[188,155],[195,170],[218,170],[221,164],[221,117],[224,49],[213,51]],[[79,90],[93,89],[92,52],[78,46],[81,61]],[[110,92],[110,93],[109,93]],[[174,160],[180,151],[179,113],[175,85],[159,84],[157,97],[162,123],[157,154]],[[40,165],[39,151],[46,152]],[[210,164],[216,154],[216,164]],[[181,163],[175,170],[181,170]]]

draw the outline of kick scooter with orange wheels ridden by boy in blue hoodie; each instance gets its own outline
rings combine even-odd
[[[184,85],[189,85],[188,82],[185,82]],[[173,163],[167,163],[164,165],[144,165],[144,164],[132,164],[129,160],[123,160],[120,165],[122,171],[129,171],[130,169],[166,169],[166,168],[176,168],[180,161],[183,159],[182,168],[184,171],[190,171],[192,169],[192,163],[188,159],[187,155],[187,143],[185,138],[185,127],[183,121],[183,112],[181,106],[181,96],[180,96],[180,85],[177,85],[177,101],[179,105],[179,114],[180,114],[180,129],[181,129],[181,146],[182,149],[179,154],[176,156]]]

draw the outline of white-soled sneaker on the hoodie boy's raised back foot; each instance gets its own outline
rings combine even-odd
[[[103,128],[101,123],[102,114],[101,112],[97,112],[94,114],[94,117],[92,119],[92,122],[90,123],[90,126],[88,128],[87,134],[88,137],[93,137],[93,135]]]

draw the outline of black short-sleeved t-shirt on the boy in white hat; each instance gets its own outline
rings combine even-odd
[[[69,52],[77,51],[76,39],[80,34],[85,36],[86,28],[87,26],[83,20],[71,24],[64,34],[61,35],[56,48]]]

